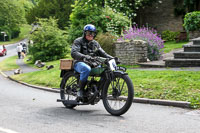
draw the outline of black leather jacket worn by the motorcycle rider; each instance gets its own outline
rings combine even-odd
[[[71,49],[71,56],[75,60],[74,63],[83,61],[85,55],[113,58],[101,48],[97,41],[89,42],[84,37],[79,37],[74,41]]]

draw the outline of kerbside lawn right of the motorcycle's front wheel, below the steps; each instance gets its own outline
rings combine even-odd
[[[199,71],[148,71],[127,70],[135,87],[135,96],[191,102],[200,108]]]

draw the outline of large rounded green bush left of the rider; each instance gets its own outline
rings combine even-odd
[[[52,61],[65,57],[68,50],[65,32],[60,30],[57,20],[39,19],[39,27],[34,31],[30,39],[29,53],[33,61]]]

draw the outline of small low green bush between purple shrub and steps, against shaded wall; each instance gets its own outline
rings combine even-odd
[[[162,32],[162,39],[165,41],[175,41],[176,37],[180,34],[180,32],[173,32],[170,30],[166,30]]]

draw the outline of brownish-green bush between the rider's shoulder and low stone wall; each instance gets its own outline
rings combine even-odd
[[[101,45],[102,49],[106,51],[109,55],[114,55],[114,42],[116,41],[116,37],[110,33],[99,33],[96,37],[96,40]]]

